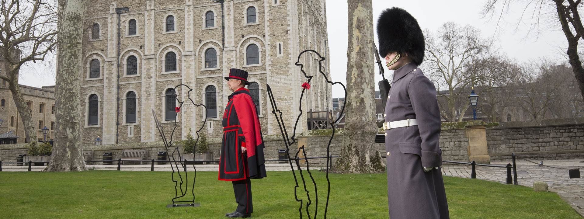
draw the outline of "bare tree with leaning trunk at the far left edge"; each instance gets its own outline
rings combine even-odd
[[[0,0],[0,61],[4,75],[25,126],[26,140],[36,141],[38,129],[31,109],[18,85],[19,71],[26,62],[43,61],[57,43],[57,6],[52,1]]]

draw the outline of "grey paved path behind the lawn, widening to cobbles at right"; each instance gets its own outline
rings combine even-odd
[[[491,164],[506,165],[511,161],[493,161]],[[539,161],[535,161],[539,162]],[[115,162],[114,162],[115,164]],[[584,159],[544,161],[545,165],[578,168],[584,167]],[[117,170],[117,165],[88,165],[88,168]],[[123,171],[150,171],[151,165],[121,165]],[[192,170],[192,165],[187,167]],[[196,165],[197,171],[217,171],[217,164]],[[43,171],[44,166],[32,166],[32,171]],[[318,168],[317,168],[318,169]],[[154,165],[155,171],[172,171],[171,165]],[[266,164],[267,171],[289,171],[288,164]],[[2,165],[2,171],[27,171],[27,166]],[[477,166],[477,178],[494,182],[506,183],[506,168]],[[471,178],[470,165],[445,165],[442,168],[445,176]],[[517,179],[519,185],[533,187],[533,182],[548,183],[548,189],[556,192],[584,217],[584,180],[582,178],[569,179],[568,170],[554,169],[545,166],[517,160]]]

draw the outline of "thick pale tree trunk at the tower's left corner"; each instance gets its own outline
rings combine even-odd
[[[55,86],[55,142],[46,171],[86,171],[81,145],[81,59],[86,0],[67,0],[62,11]]]

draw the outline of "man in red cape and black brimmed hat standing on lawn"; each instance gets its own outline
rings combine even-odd
[[[251,180],[266,177],[262,131],[255,104],[248,89],[248,72],[231,68],[225,77],[233,93],[223,113],[223,141],[219,180],[231,181],[237,209],[230,218],[250,217],[253,211]]]

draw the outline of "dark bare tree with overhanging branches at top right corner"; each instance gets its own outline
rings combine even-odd
[[[584,36],[584,25],[580,19],[579,9],[582,8],[582,0],[487,0],[484,5],[483,13],[485,16],[496,16],[498,23],[502,19],[503,14],[509,11],[509,7],[513,2],[520,2],[524,5],[522,16],[520,16],[519,23],[523,23],[524,15],[530,19],[530,32],[536,30],[540,32],[540,24],[548,19],[544,15],[554,15],[555,25],[561,27],[564,36],[568,41],[568,48],[566,54],[572,66],[572,72],[578,83],[580,95],[584,97],[584,68],[582,61],[580,61],[580,54],[578,53],[578,43]],[[500,6],[500,8],[499,8]]]

